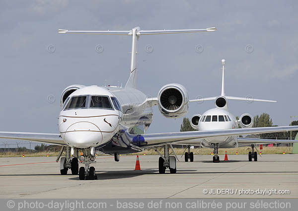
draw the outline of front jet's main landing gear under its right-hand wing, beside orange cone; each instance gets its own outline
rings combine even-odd
[[[158,159],[158,171],[159,174],[164,174],[165,169],[169,168],[171,174],[175,174],[177,172],[176,169],[176,157],[169,156],[169,145],[166,144],[163,146],[164,155],[160,154],[160,152],[155,149],[155,151],[160,155]]]

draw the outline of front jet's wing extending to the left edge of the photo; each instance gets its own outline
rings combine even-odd
[[[0,139],[13,139],[25,141],[37,141],[42,143],[51,143],[57,145],[67,145],[60,134],[41,134],[41,133],[23,133],[23,132],[0,132]]]

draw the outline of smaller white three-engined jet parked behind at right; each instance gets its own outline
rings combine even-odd
[[[208,98],[200,98],[196,100],[190,100],[190,102],[203,102],[206,100],[215,100],[215,107],[203,113],[202,115],[195,114],[191,117],[190,124],[193,129],[198,131],[216,131],[216,130],[228,130],[235,128],[243,128],[246,130],[247,128],[251,128],[253,125],[253,118],[249,114],[241,115],[239,120],[236,120],[234,115],[228,112],[227,109],[227,99],[232,100],[245,100],[247,102],[252,101],[261,101],[261,102],[277,102],[275,100],[261,100],[261,99],[253,99],[253,98],[243,98],[243,97],[231,97],[226,96],[224,92],[224,65],[225,60],[222,60],[223,65],[223,79],[222,79],[222,93],[217,97],[208,97]],[[256,128],[258,130],[258,128]],[[262,129],[260,129],[262,130]],[[254,161],[258,160],[257,152],[254,151],[254,144],[258,143],[293,143],[297,142],[295,140],[266,140],[266,139],[249,139],[242,138],[238,136],[221,136],[221,137],[208,137],[201,139],[199,141],[183,141],[184,144],[187,145],[188,151],[185,152],[184,158],[185,162],[188,162],[190,159],[191,162],[194,160],[193,152],[190,152],[191,145],[200,145],[202,147],[210,147],[214,148],[214,156],[213,162],[220,162],[220,157],[218,155],[219,147],[222,148],[234,148],[241,145],[251,145],[251,151],[248,152],[248,160]]]

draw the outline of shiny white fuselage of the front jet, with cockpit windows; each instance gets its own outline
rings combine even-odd
[[[59,116],[59,133],[72,147],[103,147],[128,129],[152,121],[152,108],[147,96],[134,88],[86,86],[74,91],[63,105]],[[142,130],[138,128],[138,130]],[[137,129],[136,129],[137,131]],[[134,133],[134,131],[132,131]]]

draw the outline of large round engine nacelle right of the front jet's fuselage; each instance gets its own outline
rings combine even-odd
[[[188,93],[184,86],[171,83],[164,85],[157,95],[158,108],[167,118],[179,118],[188,112]]]

